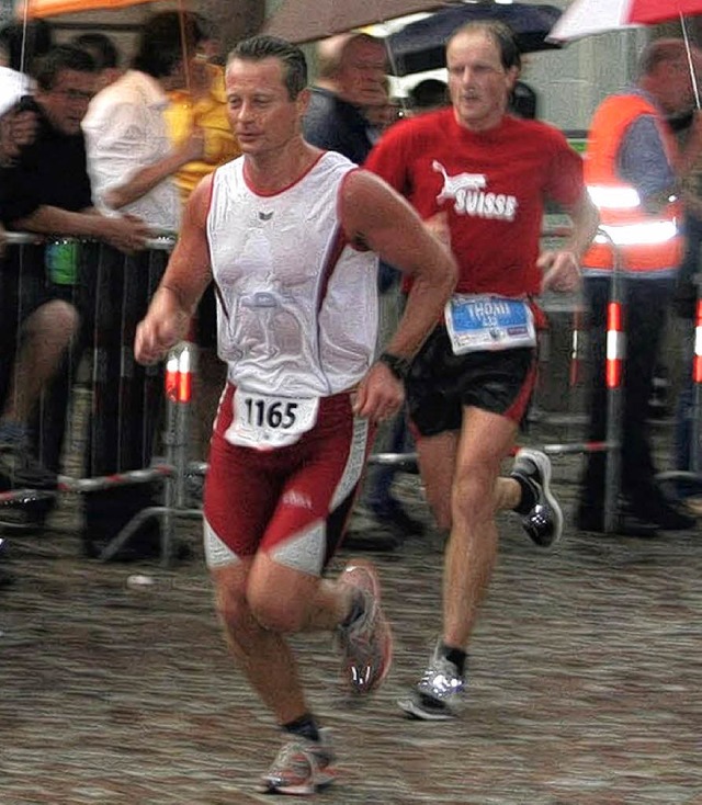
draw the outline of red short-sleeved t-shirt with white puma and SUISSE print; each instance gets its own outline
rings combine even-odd
[[[582,160],[564,135],[510,115],[479,133],[452,109],[397,123],[363,167],[422,218],[448,212],[460,293],[537,294],[544,202],[569,207],[584,192]]]

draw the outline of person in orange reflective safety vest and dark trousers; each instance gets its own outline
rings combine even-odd
[[[691,56],[699,70],[702,54],[693,48]],[[585,178],[614,243],[596,241],[582,259],[593,373],[588,438],[602,441],[607,434],[605,317],[615,262],[622,271],[626,330],[621,479],[627,519],[620,522],[620,533],[647,535],[694,523],[655,484],[647,426],[654,369],[682,257],[676,196],[702,150],[699,112],[683,152],[665,121],[693,105],[690,69],[682,39],[653,42],[642,55],[635,88],[607,98],[588,135]],[[605,461],[604,453],[587,457],[577,512],[582,531],[603,530]]]

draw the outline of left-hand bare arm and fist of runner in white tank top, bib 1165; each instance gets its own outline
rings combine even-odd
[[[161,360],[184,338],[212,280],[205,228],[211,186],[212,177],[206,177],[190,196],[166,273],[136,331],[134,354],[139,363]]]

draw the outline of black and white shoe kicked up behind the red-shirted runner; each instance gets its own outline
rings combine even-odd
[[[522,517],[522,528],[533,543],[551,547],[563,534],[563,511],[551,491],[551,461],[540,450],[523,447],[514,456],[511,475],[526,480],[536,494],[536,503]]]

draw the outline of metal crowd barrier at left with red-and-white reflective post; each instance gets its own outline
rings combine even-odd
[[[83,347],[91,351],[92,416],[86,457],[88,476],[59,475],[55,490],[14,489],[0,492],[0,511],[7,510],[8,507],[25,507],[37,501],[50,500],[65,494],[89,496],[121,487],[158,484],[162,487],[162,506],[141,509],[116,536],[107,541],[99,558],[107,560],[114,557],[147,519],[156,517],[161,520],[161,560],[168,564],[171,558],[173,519],[200,517],[201,513],[199,509],[186,506],[184,489],[188,473],[203,472],[202,463],[195,464],[194,467],[188,464],[195,348],[188,342],[179,344],[169,354],[165,373],[162,367],[140,370],[136,367],[133,355],[133,330],[158,285],[166,265],[167,252],[171,251],[174,239],[168,235],[151,238],[146,243],[146,251],[135,258],[121,256],[120,252],[99,242],[75,238],[54,240],[23,233],[9,233],[7,241],[10,249],[18,250],[50,243],[80,247],[83,274],[80,281],[75,282],[72,290],[67,285],[66,298],[77,304],[81,315],[88,319],[86,324],[89,325],[90,342],[86,342]],[[22,251],[14,257],[16,258],[14,264],[19,267],[16,282],[21,285],[25,258],[31,257]],[[90,265],[87,267],[87,263]],[[83,298],[77,298],[81,293]],[[89,304],[86,302],[87,298]],[[91,305],[92,309],[89,310]],[[111,330],[107,322],[116,322],[120,331],[114,332],[114,328]],[[127,330],[128,336],[125,335]],[[70,366],[67,371],[68,383],[71,386],[76,379],[76,369]],[[137,372],[143,374],[140,388],[137,388]],[[156,411],[163,397],[165,455],[162,458],[151,461],[152,442],[157,431]],[[66,405],[68,406],[68,399]],[[133,410],[134,407],[138,410]],[[114,420],[112,429],[103,428],[100,431],[100,428],[95,427],[94,415],[101,409],[106,411],[107,418]],[[39,420],[43,412],[38,415]],[[110,417],[110,412],[116,416]],[[139,416],[141,421],[136,422],[136,428],[126,427],[129,418]],[[64,432],[70,431],[71,422],[68,421]],[[42,439],[43,434],[39,444]],[[106,465],[111,465],[107,472],[100,472],[100,467]],[[5,530],[14,528],[13,523],[0,522],[0,528],[3,525]]]

